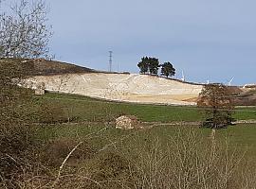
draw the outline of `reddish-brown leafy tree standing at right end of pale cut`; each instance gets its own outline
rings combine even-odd
[[[232,91],[224,84],[204,86],[197,101],[197,106],[203,109],[205,114],[203,127],[222,129],[231,125],[234,121],[232,95]]]

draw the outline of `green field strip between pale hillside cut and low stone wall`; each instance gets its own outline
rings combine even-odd
[[[46,93],[40,100],[57,103],[66,114],[79,121],[112,121],[120,114],[137,115],[145,122],[200,121],[203,118],[202,111],[196,107],[117,103],[73,94]],[[234,118],[256,119],[256,107],[236,108]]]

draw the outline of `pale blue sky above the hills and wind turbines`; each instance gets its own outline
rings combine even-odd
[[[53,0],[56,60],[138,73],[144,56],[170,61],[177,78],[256,83],[255,0]]]

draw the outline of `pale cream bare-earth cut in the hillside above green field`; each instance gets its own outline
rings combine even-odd
[[[194,105],[202,85],[138,74],[81,73],[30,77],[29,88],[137,103]]]

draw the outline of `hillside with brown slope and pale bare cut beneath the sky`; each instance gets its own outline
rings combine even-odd
[[[0,66],[26,69],[25,86],[44,82],[46,91],[81,94],[114,101],[195,105],[203,85],[148,75],[96,71],[55,60],[0,59]],[[256,105],[256,90],[230,87],[237,106]]]

